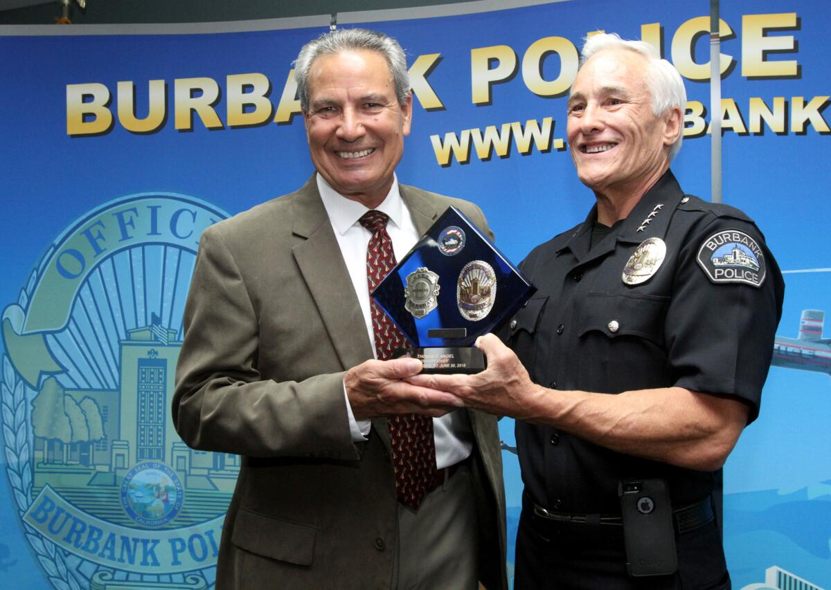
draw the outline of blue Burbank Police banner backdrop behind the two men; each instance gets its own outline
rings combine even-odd
[[[416,108],[401,181],[478,202],[520,261],[592,204],[564,144],[590,32],[642,37],[679,67],[691,102],[673,169],[709,197],[708,10],[583,0],[348,20],[397,37],[409,56]],[[829,17],[808,0],[721,3],[724,201],[755,218],[789,273],[779,366],[725,467],[736,588],[831,587]],[[204,227],[312,173],[289,73],[324,22],[0,30],[3,585],[213,588],[238,458],[190,451],[170,424],[184,296]],[[500,432],[513,534],[513,423]]]

